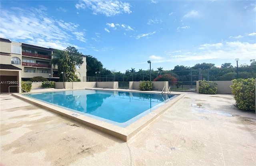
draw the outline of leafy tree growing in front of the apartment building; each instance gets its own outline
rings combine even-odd
[[[57,50],[54,53],[51,63],[58,65],[58,76],[60,81],[78,82],[80,79],[76,76],[76,65],[83,64],[82,53],[79,53],[75,47],[67,47],[64,51]],[[61,72],[64,72],[64,78]]]

